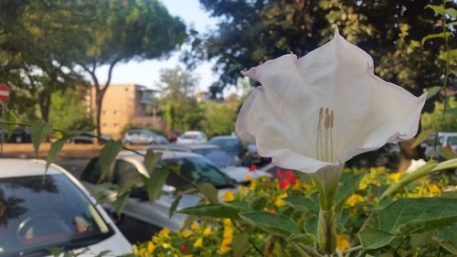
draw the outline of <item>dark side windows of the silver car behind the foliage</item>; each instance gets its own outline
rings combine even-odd
[[[203,157],[165,159],[162,164],[174,170],[179,169],[179,174],[192,182],[208,182],[217,188],[232,187],[229,178]],[[170,173],[166,178],[166,184],[178,189],[190,187],[186,179],[177,176],[175,173]]]

